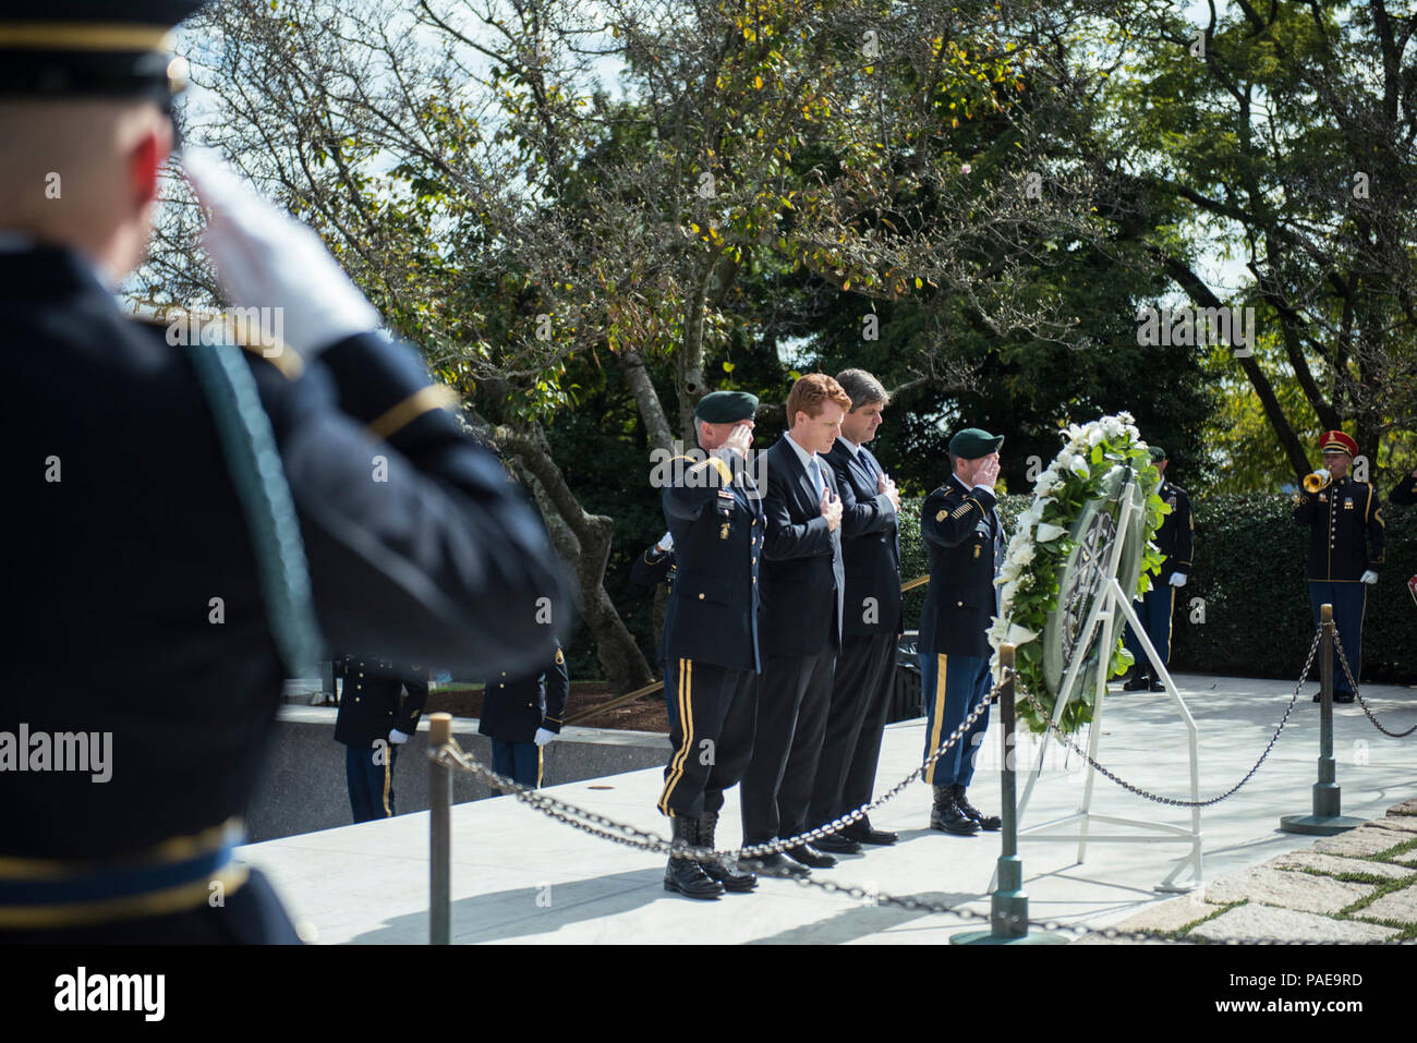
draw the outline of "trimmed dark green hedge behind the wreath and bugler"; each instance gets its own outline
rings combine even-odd
[[[1029,504],[1003,496],[1005,524]],[[901,504],[901,574],[927,570],[920,540],[920,499]],[[1193,504],[1196,556],[1190,581],[1176,591],[1170,663],[1178,670],[1297,679],[1314,624],[1304,558],[1308,533],[1294,523],[1282,493],[1213,496]],[[1363,679],[1417,680],[1417,605],[1407,578],[1417,574],[1417,507],[1386,504],[1387,564],[1369,588],[1363,622]],[[1204,602],[1204,622],[1199,605]],[[905,628],[920,625],[924,590],[905,595]],[[1314,676],[1318,676],[1315,666]]]

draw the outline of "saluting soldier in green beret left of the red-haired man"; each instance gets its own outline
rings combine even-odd
[[[752,754],[764,516],[747,456],[757,408],[745,391],[704,395],[694,427],[708,458],[676,458],[662,482],[679,564],[665,612],[674,754],[659,811],[674,840],[690,847],[714,846],[723,792],[743,778]],[[757,886],[757,876],[718,860],[672,857],[665,869],[665,890],[690,898]]]

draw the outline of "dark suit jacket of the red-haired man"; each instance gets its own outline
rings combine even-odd
[[[768,536],[758,608],[764,646],[777,656],[815,656],[842,646],[846,573],[842,527],[822,517],[822,495],[784,435],[768,449]],[[828,487],[836,476],[820,461]]]

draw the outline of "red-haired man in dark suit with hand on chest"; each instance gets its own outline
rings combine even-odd
[[[764,656],[758,734],[743,778],[745,845],[795,836],[811,825],[846,592],[842,500],[822,455],[832,451],[850,407],[850,395],[832,377],[802,377],[788,393],[788,432],[767,452],[768,536],[758,609]],[[762,864],[794,874],[836,864],[805,843],[789,855],[769,855]]]

